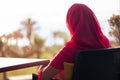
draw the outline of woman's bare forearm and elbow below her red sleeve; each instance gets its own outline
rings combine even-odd
[[[60,71],[52,66],[47,66],[42,73],[41,80],[51,80]]]

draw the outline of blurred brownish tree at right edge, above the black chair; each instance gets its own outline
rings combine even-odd
[[[109,35],[112,37],[110,40],[112,47],[120,46],[120,15],[113,14],[108,20],[111,30]]]

